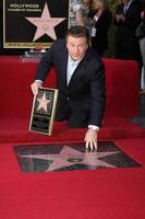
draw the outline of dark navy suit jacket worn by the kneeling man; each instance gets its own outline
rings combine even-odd
[[[71,127],[86,127],[87,124],[100,127],[106,100],[104,64],[96,51],[88,48],[68,85],[68,57],[65,41],[56,41],[43,57],[35,79],[45,81],[55,67],[59,89],[57,119],[69,118]]]

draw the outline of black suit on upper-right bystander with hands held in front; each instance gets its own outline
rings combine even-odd
[[[141,22],[141,5],[137,1],[133,0],[128,11],[124,13],[124,4],[121,3],[117,8],[116,14],[123,14],[124,21],[117,21],[116,35],[116,58],[119,59],[133,59],[141,62],[141,54],[138,41],[135,36],[136,27]]]

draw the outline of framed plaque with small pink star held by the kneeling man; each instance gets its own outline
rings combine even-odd
[[[57,89],[41,88],[34,96],[29,130],[51,136],[57,100]]]

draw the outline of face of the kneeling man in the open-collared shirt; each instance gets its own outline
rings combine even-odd
[[[85,55],[87,47],[85,37],[68,36],[67,38],[67,48],[74,61],[80,60]]]

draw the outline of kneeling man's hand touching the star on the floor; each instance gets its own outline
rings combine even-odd
[[[85,134],[84,141],[86,149],[97,150],[97,131],[93,128],[88,128],[88,130]]]

